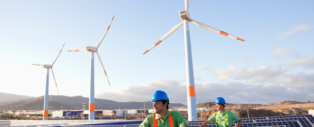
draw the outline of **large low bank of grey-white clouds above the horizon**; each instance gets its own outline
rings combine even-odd
[[[227,103],[273,103],[280,101],[307,102],[313,98],[314,73],[296,73],[288,68],[307,66],[313,68],[314,57],[285,62],[278,65],[261,66],[257,69],[227,66],[216,67],[214,72],[220,82],[195,84],[196,103],[214,102],[223,97]],[[200,79],[194,77],[194,79]],[[139,85],[123,85],[109,92],[96,93],[96,98],[118,102],[151,100],[157,90],[165,91],[171,103],[187,105],[186,77],[153,79]],[[246,81],[246,82],[243,82]]]

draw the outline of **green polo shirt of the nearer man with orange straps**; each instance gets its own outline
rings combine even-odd
[[[158,119],[158,126],[157,127],[170,127],[169,123],[169,115],[171,112],[167,110],[165,119],[162,120],[156,115],[155,119]],[[181,113],[178,111],[172,111],[172,122],[174,127],[185,127],[187,126],[187,121],[184,119]],[[138,127],[154,127],[154,114],[151,114],[145,118],[141,125]]]

